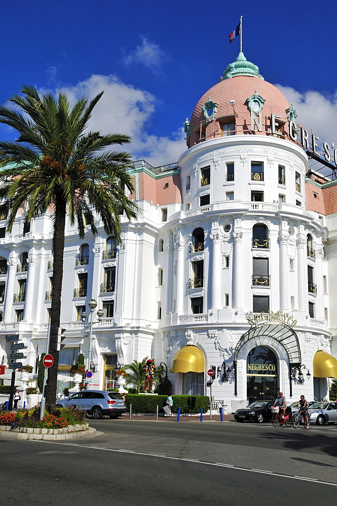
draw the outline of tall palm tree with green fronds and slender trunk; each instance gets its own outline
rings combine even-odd
[[[64,227],[66,215],[79,235],[85,223],[97,234],[95,213],[108,236],[121,242],[120,212],[129,220],[136,218],[137,206],[124,193],[133,185],[126,167],[130,155],[108,151],[114,144],[131,141],[127,135],[88,131],[91,113],[102,93],[90,103],[86,98],[70,108],[64,93],[55,100],[51,94],[40,96],[35,88],[24,86],[21,95],[10,100],[17,108],[0,107],[0,122],[18,133],[14,142],[0,142],[0,214],[8,213],[10,232],[19,209],[26,209],[25,223],[53,210],[54,275],[51,326],[60,326],[63,278]],[[52,353],[54,365],[48,372],[47,403],[55,403],[58,352]]]

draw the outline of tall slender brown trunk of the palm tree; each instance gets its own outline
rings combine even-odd
[[[53,294],[52,308],[50,315],[50,326],[60,326],[61,316],[61,291],[63,279],[63,250],[64,250],[64,228],[66,217],[66,203],[63,195],[59,194],[55,201],[54,212],[54,267],[53,267]],[[57,370],[59,352],[52,352],[54,364],[48,369],[48,394],[46,398],[47,404],[55,404],[56,388],[57,388]]]

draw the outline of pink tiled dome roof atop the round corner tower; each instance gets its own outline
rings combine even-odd
[[[271,116],[271,114],[273,113],[281,116],[283,120],[286,120],[287,118],[285,110],[288,109],[289,107],[287,99],[270,82],[258,79],[257,77],[239,75],[218,82],[215,86],[210,88],[208,92],[206,92],[201,97],[191,117],[190,147],[193,146],[196,142],[198,142],[197,139],[199,138],[199,130],[198,135],[197,133],[194,132],[194,130],[200,128],[201,121],[205,121],[202,108],[208,101],[208,98],[210,98],[212,102],[216,102],[218,104],[218,108],[216,111],[216,118],[230,115],[234,116],[234,114],[237,114],[238,117],[235,118],[237,134],[245,134],[245,133],[251,134],[250,132],[251,118],[250,118],[250,111],[247,107],[247,98],[254,95],[255,91],[265,100],[263,109],[261,111],[263,118],[262,119],[263,132],[260,132],[259,134],[271,135],[270,134],[271,120],[268,116]],[[231,100],[235,100],[234,110],[233,106],[230,105]],[[213,132],[214,128],[215,130],[219,128],[218,122],[210,121],[206,127],[207,138],[208,133],[210,133],[210,131]],[[283,129],[281,129],[281,132],[282,131]],[[219,135],[219,133],[220,132],[218,132],[217,134]],[[258,132],[257,129],[255,128],[255,135],[256,134],[258,134]]]

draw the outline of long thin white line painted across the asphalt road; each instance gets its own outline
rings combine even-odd
[[[183,458],[183,457],[170,457],[168,455],[159,455],[159,454],[154,454],[154,453],[143,453],[140,451],[132,451],[132,450],[121,450],[121,449],[117,450],[115,448],[104,448],[103,446],[87,446],[87,445],[74,444],[74,443],[56,443],[56,442],[54,443],[53,441],[46,441],[43,439],[34,439],[33,441],[35,441],[36,443],[57,444],[57,445],[61,445],[61,446],[76,446],[78,448],[88,448],[89,450],[94,449],[94,450],[113,451],[113,452],[117,452],[117,453],[133,453],[134,455],[144,455],[147,457],[157,456],[157,457],[161,457],[161,458],[167,458],[169,460],[181,460],[184,462],[197,462],[197,463],[205,465],[205,466],[216,466],[216,467],[221,467],[221,468],[237,469],[238,471],[246,471],[248,473],[266,474],[268,476],[271,476],[271,475],[278,476],[280,478],[288,478],[290,480],[312,481],[314,483],[321,483],[322,485],[331,485],[333,487],[337,487],[337,483],[330,483],[327,481],[319,481],[314,478],[306,478],[305,476],[290,476],[290,475],[284,475],[281,473],[273,473],[271,471],[264,471],[262,469],[260,470],[260,469],[241,468],[239,466],[233,466],[233,465],[224,464],[221,462],[207,462],[205,460],[194,460],[191,458]]]

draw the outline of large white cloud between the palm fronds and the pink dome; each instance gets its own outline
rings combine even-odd
[[[115,75],[92,75],[76,86],[57,90],[57,93],[63,91],[74,104],[83,96],[91,100],[102,90],[104,94],[90,119],[90,130],[130,135],[132,143],[122,149],[131,152],[135,160],[144,158],[153,166],[177,161],[186,149],[182,129],[172,132],[171,138],[147,134],[147,124],[159,106],[159,101],[151,93],[126,85]]]

